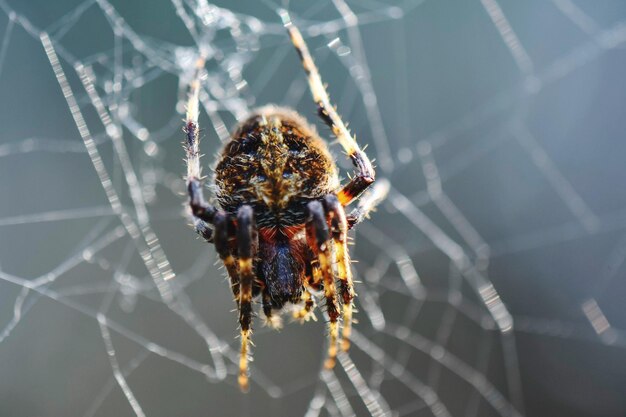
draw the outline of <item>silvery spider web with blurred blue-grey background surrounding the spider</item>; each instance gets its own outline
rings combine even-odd
[[[623,415],[626,6],[241,3],[0,0],[0,414]],[[257,324],[242,395],[181,120],[200,50],[205,167],[254,106],[314,120],[281,8],[392,189],[349,354]]]

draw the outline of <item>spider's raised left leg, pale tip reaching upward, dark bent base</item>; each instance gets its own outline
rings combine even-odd
[[[204,68],[204,59],[198,59],[196,64],[196,76],[191,83],[189,100],[187,101],[187,116],[185,119],[184,143],[187,153],[187,193],[189,194],[189,206],[194,217],[194,226],[203,237],[209,232],[208,224],[213,223],[213,217],[217,209],[206,202],[202,192],[202,171],[200,169],[200,130],[198,127],[198,94],[200,90],[200,74]],[[202,220],[204,225],[198,229],[198,222]],[[210,235],[209,235],[210,236]],[[206,237],[205,237],[206,239]],[[208,240],[208,239],[207,239]]]

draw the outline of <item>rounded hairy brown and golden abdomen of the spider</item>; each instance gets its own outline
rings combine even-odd
[[[259,226],[304,222],[304,207],[336,192],[335,162],[325,142],[292,110],[266,106],[235,129],[215,167],[220,206],[235,213],[255,208]]]

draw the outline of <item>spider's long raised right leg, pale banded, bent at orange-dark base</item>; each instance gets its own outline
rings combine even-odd
[[[289,15],[283,13],[283,22],[291,42],[298,51],[302,66],[307,74],[309,81],[309,89],[313,95],[313,100],[317,103],[317,112],[320,118],[326,123],[333,131],[333,134],[343,147],[348,157],[352,160],[352,164],[356,169],[356,175],[348,184],[346,184],[341,191],[339,191],[339,202],[346,206],[350,204],[355,198],[357,198],[363,191],[365,191],[373,182],[375,178],[374,168],[369,158],[359,148],[356,139],[352,136],[346,125],[341,120],[341,117],[337,113],[337,110],[330,103],[330,98],[322,83],[320,73],[315,66],[315,62],[311,57],[309,48],[306,46],[300,30],[291,23]]]

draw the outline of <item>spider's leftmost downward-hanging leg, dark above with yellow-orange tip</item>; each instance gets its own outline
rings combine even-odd
[[[250,324],[252,322],[252,282],[254,281],[253,259],[258,246],[254,212],[250,206],[241,206],[237,211],[237,249],[239,255],[239,324],[241,325],[241,352],[239,356],[239,387],[248,390],[248,351]]]

